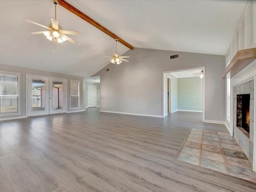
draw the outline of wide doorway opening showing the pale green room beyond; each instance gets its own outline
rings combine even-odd
[[[176,111],[202,112],[205,121],[205,67],[163,72],[162,116]]]

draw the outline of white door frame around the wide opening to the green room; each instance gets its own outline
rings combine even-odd
[[[184,70],[195,70],[195,69],[202,69],[203,70],[203,115],[202,115],[202,122],[205,122],[205,66],[202,67],[195,67],[195,68],[186,68],[186,69],[180,69],[180,70],[171,70],[171,71],[163,71],[162,72],[162,117],[165,117],[165,95],[167,95],[167,92],[165,92],[165,87],[167,86],[167,81],[165,82],[165,74],[171,73],[171,72],[177,72],[177,71],[184,71]],[[167,76],[166,76],[167,78]],[[167,91],[167,89],[166,89]]]

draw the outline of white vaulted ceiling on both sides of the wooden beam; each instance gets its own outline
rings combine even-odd
[[[225,55],[245,0],[67,0],[78,10],[136,48]],[[52,0],[0,1],[0,63],[90,77],[109,64],[115,40],[62,6],[57,20],[78,42],[59,44],[30,32],[54,18]],[[129,49],[118,44],[118,53]]]

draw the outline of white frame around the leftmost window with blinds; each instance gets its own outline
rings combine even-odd
[[[20,112],[20,73],[0,71],[0,74],[17,75],[18,76],[18,96],[17,96],[17,98],[18,98],[18,105],[17,105],[18,112],[7,112],[7,113],[4,113],[4,114],[1,114],[1,101],[0,101],[0,116],[20,115],[21,114],[21,112]],[[1,93],[0,93],[0,100],[1,100]]]

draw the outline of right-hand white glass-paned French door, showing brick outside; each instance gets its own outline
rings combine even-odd
[[[50,114],[66,113],[66,80],[49,79]]]

